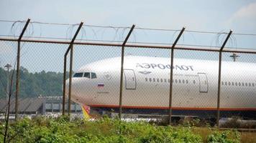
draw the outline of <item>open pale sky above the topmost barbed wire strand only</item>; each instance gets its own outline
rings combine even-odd
[[[252,0],[1,0],[0,19],[255,33],[255,8]]]

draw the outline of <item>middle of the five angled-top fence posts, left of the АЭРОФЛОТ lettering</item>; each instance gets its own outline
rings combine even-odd
[[[122,44],[122,54],[121,54],[121,77],[120,77],[120,94],[119,94],[119,119],[122,117],[122,97],[123,97],[123,74],[124,74],[124,46],[127,43],[129,36],[132,34],[135,25],[132,25],[132,28],[129,30],[127,37],[124,39]]]

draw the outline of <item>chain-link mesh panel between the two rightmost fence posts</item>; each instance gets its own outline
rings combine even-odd
[[[218,59],[219,52],[216,51],[175,50],[173,114],[196,119],[203,117],[214,122],[218,97]]]

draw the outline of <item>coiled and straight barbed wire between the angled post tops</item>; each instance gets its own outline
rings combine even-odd
[[[15,31],[17,31],[17,27],[19,26],[19,31],[21,31],[21,28],[22,28],[22,23],[25,23],[26,21],[5,21],[5,20],[1,20],[0,21],[4,21],[4,22],[12,22],[12,36],[16,37],[15,35]],[[32,26],[32,30],[29,30],[29,34],[31,36],[24,36],[24,38],[35,38],[35,39],[58,39],[58,40],[70,40],[71,39],[71,36],[73,35],[73,29],[75,28],[75,26],[78,26],[79,24],[58,24],[58,23],[47,23],[47,22],[40,22],[40,21],[31,21],[30,22],[31,26]],[[66,31],[66,36],[65,38],[56,38],[56,37],[47,37],[47,36],[42,36],[41,33],[40,33],[40,36],[32,36],[32,34],[34,33],[34,24],[54,24],[54,25],[65,25],[65,26],[68,26],[68,29]],[[16,27],[14,27],[15,25],[18,25]],[[89,29],[85,29],[85,26],[89,27]],[[30,26],[29,26],[30,27]],[[96,31],[96,29],[93,29],[93,27],[98,27],[100,28],[98,31]],[[16,29],[14,29],[16,28]],[[41,28],[41,27],[40,27]],[[97,32],[99,31],[102,31],[103,32],[101,33],[103,36],[104,32],[105,32],[105,28],[111,28],[111,29],[114,29],[115,31],[115,34],[114,34],[114,38],[110,41],[110,40],[99,40],[97,38]],[[124,32],[129,29],[129,27],[122,27],[122,26],[97,26],[97,25],[83,25],[82,26],[82,29],[81,29],[81,39],[76,39],[77,41],[99,41],[99,42],[123,42],[122,39],[124,39]],[[136,27],[135,29],[139,29],[139,30],[142,30],[142,32],[145,32],[145,30],[157,30],[157,31],[174,31],[173,32],[173,38],[174,38],[174,35],[180,31],[180,29],[151,29],[151,28],[142,28],[142,27]],[[95,39],[87,39],[86,38],[86,33],[88,33],[88,30],[91,30],[92,33],[93,33],[93,36],[95,36]],[[32,31],[32,32],[31,32]],[[134,41],[133,42],[129,42],[129,43],[133,43],[133,44],[157,44],[157,45],[168,45],[168,44],[171,44],[171,41],[173,41],[172,39],[170,39],[170,42],[168,43],[152,43],[152,42],[137,42],[136,41],[136,32],[137,31],[134,31],[132,34],[134,36]],[[215,32],[215,31],[195,31],[195,30],[187,30],[185,31],[187,32],[188,34],[191,34],[191,36],[193,37],[193,40],[196,41],[195,37],[193,36],[192,33],[200,33],[200,34],[216,34],[216,37],[214,38],[215,41],[216,41],[216,46],[219,46],[220,43],[222,43],[222,41],[224,40],[224,35],[225,34],[228,34],[227,32],[224,32],[224,31],[219,31],[219,32]],[[239,34],[239,35],[255,35],[256,34]],[[0,35],[0,36],[9,36],[9,35]],[[83,39],[83,36],[86,38],[86,39]],[[119,39],[119,40],[116,40],[116,39]],[[182,39],[183,39],[183,43],[185,41],[185,34],[182,35]],[[202,44],[196,44],[194,46],[210,46],[210,47],[213,47],[212,44],[213,44],[213,41],[214,39],[211,41],[211,45],[202,45]],[[234,37],[234,34],[232,34],[232,37],[231,37],[231,40],[229,41],[230,44],[232,44],[235,48],[237,48],[237,40],[236,38]],[[186,45],[186,44],[184,44]],[[191,45],[189,45],[191,46]]]

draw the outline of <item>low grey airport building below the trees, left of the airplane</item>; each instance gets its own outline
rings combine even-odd
[[[39,96],[19,99],[19,115],[37,116],[62,113],[63,98],[60,96]],[[7,99],[0,99],[0,114],[4,116]],[[68,99],[66,99],[65,112],[68,112]],[[71,102],[71,113],[82,114],[79,104]],[[11,99],[10,114],[15,114],[15,99]]]

